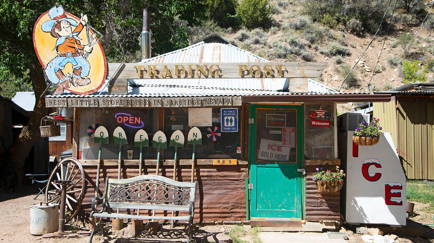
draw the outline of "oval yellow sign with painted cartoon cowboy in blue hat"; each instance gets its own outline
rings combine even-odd
[[[79,19],[62,6],[52,7],[36,21],[33,44],[47,78],[58,84],[53,94],[64,90],[91,94],[104,83],[104,52],[96,34],[90,31],[86,15],[81,14]]]

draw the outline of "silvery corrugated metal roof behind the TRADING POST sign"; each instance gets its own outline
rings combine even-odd
[[[216,41],[216,38],[213,39]],[[218,40],[217,40],[218,41]],[[270,62],[251,52],[221,42],[202,41],[186,48],[143,60],[142,63],[186,62]],[[107,88],[90,95],[64,93],[54,97],[201,97],[233,95],[293,94],[281,92],[286,78],[224,78],[224,79],[129,79],[127,95],[108,95]],[[313,79],[309,79],[304,94],[339,94]],[[53,96],[48,96],[53,97]]]

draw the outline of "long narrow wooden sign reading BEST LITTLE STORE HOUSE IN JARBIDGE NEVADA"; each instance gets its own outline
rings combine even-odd
[[[45,98],[46,107],[221,107],[240,106],[240,96],[178,98]]]

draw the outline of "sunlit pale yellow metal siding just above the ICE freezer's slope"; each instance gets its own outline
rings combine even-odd
[[[395,99],[392,98],[389,102],[374,102],[372,106],[374,108],[374,117],[380,119],[380,126],[383,128],[383,132],[391,133],[393,143],[398,146],[398,129]]]

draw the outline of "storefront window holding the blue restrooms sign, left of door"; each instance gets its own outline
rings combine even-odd
[[[180,159],[191,159],[193,154],[193,146],[191,144],[187,144],[187,135],[192,126],[189,125],[189,109],[195,108],[169,108],[164,109],[164,134],[166,134],[168,141],[170,140],[170,136],[175,130],[181,130],[185,136],[185,144],[184,148],[178,148],[178,158]],[[209,124],[200,124],[198,123],[196,126],[199,128],[202,134],[202,145],[196,146],[196,159],[241,159],[241,149],[239,149],[237,153],[237,147],[241,147],[241,109],[235,108],[238,110],[237,123],[238,123],[238,131],[237,132],[223,132],[221,131],[220,125],[220,112],[221,108],[203,108],[207,113],[210,109],[211,111],[211,126]],[[191,110],[190,110],[191,114]],[[190,117],[191,119],[191,117]],[[191,121],[190,121],[191,122]],[[234,122],[234,121],[233,121]],[[231,125],[230,120],[228,120],[228,124]],[[202,125],[202,126],[200,126]],[[217,130],[215,129],[217,127]],[[207,130],[211,130],[214,132],[214,135],[211,135],[210,138],[207,137]],[[218,133],[220,132],[220,133]],[[210,134],[210,132],[208,132]],[[174,158],[174,148],[168,146],[168,149],[164,149],[164,159],[173,159]]]

